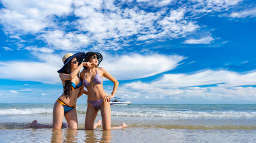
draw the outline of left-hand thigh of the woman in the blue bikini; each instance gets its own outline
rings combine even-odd
[[[64,108],[56,101],[53,107],[53,129],[61,129],[63,117]]]

